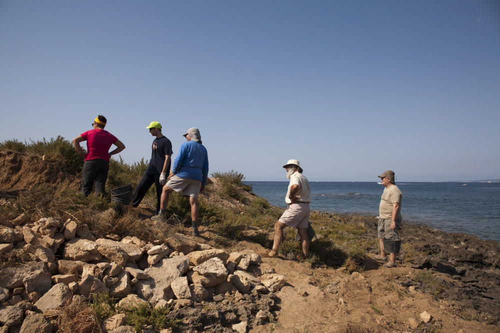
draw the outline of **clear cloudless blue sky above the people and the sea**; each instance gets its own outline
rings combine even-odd
[[[210,172],[500,178],[500,2],[0,0],[0,141],[97,114],[150,156],[198,127]]]

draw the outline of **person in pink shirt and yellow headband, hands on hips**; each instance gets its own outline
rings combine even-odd
[[[81,192],[85,196],[92,191],[95,181],[95,193],[104,195],[107,172],[109,170],[109,158],[117,154],[125,146],[114,135],[104,130],[106,118],[98,115],[92,123],[93,129],[83,132],[73,139],[74,149],[84,158],[81,170]],[[81,150],[80,142],[87,141],[87,153]],[[115,145],[116,149],[109,151],[109,147]]]

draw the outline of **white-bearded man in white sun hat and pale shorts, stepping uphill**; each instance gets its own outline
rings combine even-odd
[[[285,202],[288,208],[274,224],[274,242],[272,249],[267,254],[269,257],[277,257],[279,244],[283,241],[283,229],[286,227],[297,228],[302,243],[304,257],[309,251],[309,238],[307,237],[307,226],[309,224],[309,203],[311,192],[309,181],[302,174],[302,168],[297,160],[288,160],[283,165],[286,170],[286,178],[290,180]]]

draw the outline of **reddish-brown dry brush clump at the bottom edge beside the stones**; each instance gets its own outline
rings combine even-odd
[[[45,312],[61,333],[100,333],[100,322],[92,307],[81,298],[70,305]]]

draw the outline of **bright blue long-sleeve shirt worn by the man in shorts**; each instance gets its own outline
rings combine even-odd
[[[204,186],[208,177],[206,148],[193,140],[182,143],[173,162],[172,173],[180,178],[199,180]]]

